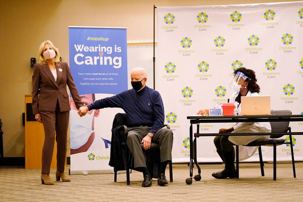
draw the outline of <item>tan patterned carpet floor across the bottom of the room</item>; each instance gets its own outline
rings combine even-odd
[[[303,201],[303,163],[296,163],[297,178],[293,178],[291,164],[277,164],[277,180],[273,181],[272,164],[265,163],[261,176],[259,163],[240,163],[239,179],[215,179],[212,172],[224,165],[201,165],[201,181],[186,185],[187,164],[173,164],[173,183],[160,187],[153,180],[152,187],[141,187],[142,174],[71,175],[70,183],[41,184],[40,169],[0,167],[0,201]],[[68,166],[66,172],[68,173]],[[51,178],[55,180],[55,169]],[[194,174],[197,174],[194,168]],[[169,169],[166,170],[169,179]]]

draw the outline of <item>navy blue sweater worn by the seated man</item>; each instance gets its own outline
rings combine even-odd
[[[112,97],[106,97],[87,105],[89,110],[106,107],[122,108],[126,113],[127,127],[149,126],[157,132],[164,124],[164,107],[158,91],[145,86],[139,92],[133,88]]]

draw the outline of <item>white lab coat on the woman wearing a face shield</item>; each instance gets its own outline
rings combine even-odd
[[[237,107],[239,103],[235,101],[239,92],[234,92],[232,96],[229,98],[229,102],[234,103]],[[251,93],[247,92],[246,96],[259,96],[257,92]],[[238,114],[241,115],[241,104],[238,107]],[[271,125],[269,122],[244,122],[244,123],[236,123],[233,126],[234,131],[232,133],[266,133],[271,132]],[[239,145],[239,160],[245,160],[249,157],[253,156],[254,153],[258,150],[258,147],[246,147],[246,145],[254,140],[260,139],[268,139],[270,135],[256,135],[256,136],[229,136],[228,140],[233,144]]]

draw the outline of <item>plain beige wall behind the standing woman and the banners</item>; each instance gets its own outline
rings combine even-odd
[[[127,27],[128,41],[153,39],[153,5],[226,5],[287,0],[15,0],[0,2],[0,118],[5,157],[24,157],[24,95],[31,94],[30,58],[51,40],[68,62],[67,26]]]

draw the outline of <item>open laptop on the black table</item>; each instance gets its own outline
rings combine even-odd
[[[270,115],[270,96],[241,96],[241,115]]]

